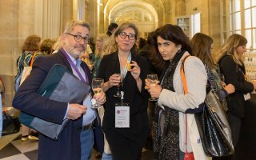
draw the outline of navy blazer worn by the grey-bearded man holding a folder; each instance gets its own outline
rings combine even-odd
[[[46,78],[47,73],[54,64],[66,66],[72,72],[70,63],[62,51],[49,56],[38,57],[33,64],[30,76],[18,89],[14,96],[13,106],[28,114],[37,116],[46,121],[61,124],[67,109],[66,102],[56,102],[43,98],[38,94],[38,89]],[[86,63],[81,64],[82,69],[90,78],[90,70]],[[89,81],[91,82],[91,80]],[[82,117],[75,121],[69,121],[66,128],[60,134],[58,141],[54,141],[39,134],[38,159],[81,159],[80,132],[82,130]]]

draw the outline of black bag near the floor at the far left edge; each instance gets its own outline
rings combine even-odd
[[[10,114],[2,111],[2,135],[16,134],[20,129],[18,118],[13,118]]]

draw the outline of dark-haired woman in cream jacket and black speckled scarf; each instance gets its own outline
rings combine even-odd
[[[199,58],[189,56],[189,38],[179,26],[167,24],[155,31],[155,47],[166,62],[160,85],[146,89],[152,98],[158,98],[154,123],[154,159],[183,160],[193,152],[195,159],[206,160],[194,113],[202,109],[206,98],[207,74]],[[186,56],[189,56],[186,58]],[[183,59],[188,93],[184,94],[181,66]]]

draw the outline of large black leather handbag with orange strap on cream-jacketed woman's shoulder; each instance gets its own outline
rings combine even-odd
[[[181,76],[184,91],[186,88],[186,78],[184,71],[184,58],[181,66]],[[206,67],[207,77],[210,78],[210,70]],[[209,81],[208,81],[209,82]],[[210,88],[204,102],[202,112],[194,114],[198,126],[198,132],[202,141],[202,147],[207,156],[222,157],[234,154],[234,146],[231,138],[230,125],[226,119],[226,112],[219,102],[214,90]],[[186,93],[186,91],[185,91]]]

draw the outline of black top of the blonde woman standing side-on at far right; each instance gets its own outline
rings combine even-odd
[[[245,98],[243,94],[247,94],[254,90],[251,82],[246,82],[244,74],[246,74],[245,66],[240,66],[230,55],[225,55],[219,62],[220,72],[224,74],[226,84],[234,85],[235,92],[227,98],[229,112],[239,118],[245,116]]]

